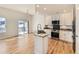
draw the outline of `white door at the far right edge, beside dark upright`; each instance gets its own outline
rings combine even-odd
[[[76,5],[76,53],[79,53],[79,5]]]

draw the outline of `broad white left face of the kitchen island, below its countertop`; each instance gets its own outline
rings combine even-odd
[[[42,38],[35,36],[34,39],[34,53],[35,54],[42,54],[43,53],[43,43]]]

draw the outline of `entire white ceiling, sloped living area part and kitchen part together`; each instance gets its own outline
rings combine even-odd
[[[35,10],[40,13],[54,14],[54,13],[62,13],[69,12],[72,10],[72,4],[39,4],[39,7],[36,7],[34,4],[0,4],[0,7],[13,9],[16,11],[34,14]],[[44,10],[46,8],[46,10]]]

